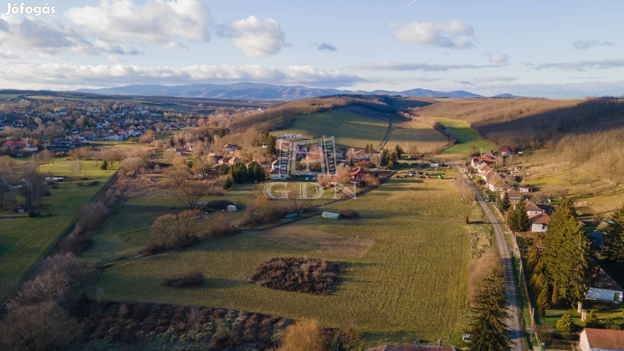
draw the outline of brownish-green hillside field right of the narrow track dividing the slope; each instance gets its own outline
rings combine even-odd
[[[411,146],[417,146],[420,152],[436,152],[448,143],[444,134],[426,124],[397,116],[392,119],[392,132],[386,146],[394,149],[399,145],[405,151]]]

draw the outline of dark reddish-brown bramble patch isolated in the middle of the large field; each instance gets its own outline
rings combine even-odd
[[[306,257],[273,257],[256,265],[248,280],[276,290],[329,295],[344,265]]]

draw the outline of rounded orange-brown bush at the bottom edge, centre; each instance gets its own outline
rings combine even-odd
[[[280,351],[323,351],[325,339],[316,319],[300,320],[283,333]]]

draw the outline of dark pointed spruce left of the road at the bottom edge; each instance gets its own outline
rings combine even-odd
[[[470,350],[510,350],[509,327],[505,320],[507,296],[505,279],[497,269],[492,270],[479,285],[479,294],[474,301],[472,322],[470,322]]]

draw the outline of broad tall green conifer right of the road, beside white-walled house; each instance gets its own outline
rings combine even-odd
[[[590,240],[572,204],[572,199],[559,199],[544,239],[544,272],[553,304],[582,300],[593,272]]]

